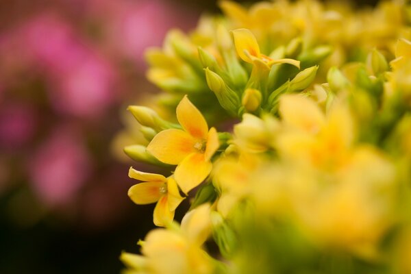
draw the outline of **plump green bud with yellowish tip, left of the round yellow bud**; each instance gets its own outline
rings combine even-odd
[[[236,92],[225,84],[220,75],[210,71],[208,68],[204,69],[204,71],[206,71],[208,87],[214,92],[220,105],[230,114],[236,115],[240,106],[240,98]]]

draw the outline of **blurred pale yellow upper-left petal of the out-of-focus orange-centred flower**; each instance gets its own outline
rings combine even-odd
[[[325,121],[319,106],[301,95],[283,95],[279,112],[285,123],[310,133],[319,132]]]

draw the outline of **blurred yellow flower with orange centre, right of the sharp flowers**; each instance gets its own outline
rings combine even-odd
[[[311,99],[284,95],[279,101],[284,130],[275,146],[284,158],[308,160],[315,166],[338,166],[345,161],[356,136],[347,105],[335,103],[327,115]]]

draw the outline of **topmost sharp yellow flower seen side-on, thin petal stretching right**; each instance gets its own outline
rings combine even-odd
[[[300,62],[297,60],[288,58],[274,60],[262,54],[256,37],[253,36],[249,29],[234,29],[232,34],[236,51],[243,61],[250,64],[262,64],[267,68],[270,68],[273,64],[292,64],[299,68]]]

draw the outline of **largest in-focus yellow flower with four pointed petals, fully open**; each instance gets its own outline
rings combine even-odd
[[[183,129],[166,129],[149,143],[147,151],[166,164],[178,164],[177,184],[187,193],[210,174],[212,155],[219,148],[216,129],[208,130],[206,119],[187,96],[177,105],[177,120]]]

